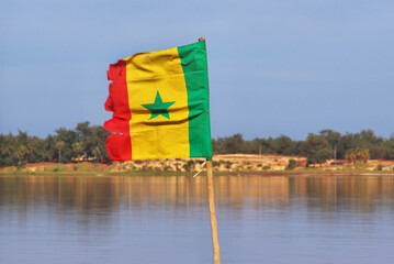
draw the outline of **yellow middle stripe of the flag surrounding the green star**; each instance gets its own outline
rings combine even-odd
[[[140,53],[126,64],[133,160],[190,156],[188,90],[178,48]],[[153,116],[142,105],[173,102],[166,114]],[[168,103],[170,105],[170,103]],[[151,118],[151,119],[150,119]]]

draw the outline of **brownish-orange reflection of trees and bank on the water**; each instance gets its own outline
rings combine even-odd
[[[308,210],[338,211],[351,208],[371,212],[394,209],[391,176],[216,176],[218,207],[243,210],[282,208],[305,202]],[[121,206],[206,206],[205,178],[190,176],[1,176],[0,207],[19,210],[35,205],[56,206],[58,211],[109,213]]]

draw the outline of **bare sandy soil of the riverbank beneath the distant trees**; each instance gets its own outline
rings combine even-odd
[[[204,158],[144,160],[110,163],[29,163],[22,168],[9,166],[0,173],[56,173],[56,172],[103,172],[123,173],[133,170],[147,172],[199,172],[204,168]],[[292,166],[289,166],[292,163]],[[213,157],[214,172],[282,172],[303,170],[306,157],[283,155],[226,154]],[[327,161],[324,164],[309,165],[308,168],[323,172],[372,172],[393,170],[394,161],[373,160],[367,162]]]

